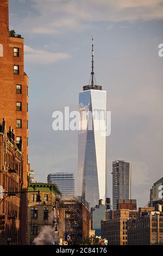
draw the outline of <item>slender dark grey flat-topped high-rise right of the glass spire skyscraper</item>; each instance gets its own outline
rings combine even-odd
[[[115,210],[117,199],[131,199],[131,166],[115,160],[112,162],[112,203]]]

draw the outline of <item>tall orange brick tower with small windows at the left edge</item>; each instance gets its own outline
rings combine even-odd
[[[9,31],[9,2],[0,2],[0,120],[5,118],[15,131],[16,142],[23,141],[23,184],[28,172],[28,76],[24,72],[24,40]],[[26,243],[26,194],[22,194],[22,243]]]

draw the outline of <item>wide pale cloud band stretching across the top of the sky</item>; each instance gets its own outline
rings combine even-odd
[[[163,19],[162,0],[31,1],[33,14],[27,14],[27,17],[19,22],[21,27],[36,34],[81,31],[85,27],[88,28],[88,24],[95,25],[99,21]]]

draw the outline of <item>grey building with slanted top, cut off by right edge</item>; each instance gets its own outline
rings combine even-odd
[[[163,177],[154,182],[150,191],[150,204],[153,206],[154,201],[163,200]]]

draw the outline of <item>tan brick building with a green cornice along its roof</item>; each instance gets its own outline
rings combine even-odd
[[[36,202],[37,191],[40,191],[41,202]],[[33,245],[42,227],[49,226],[54,230],[59,227],[60,191],[53,183],[29,183],[28,192],[27,245]]]

